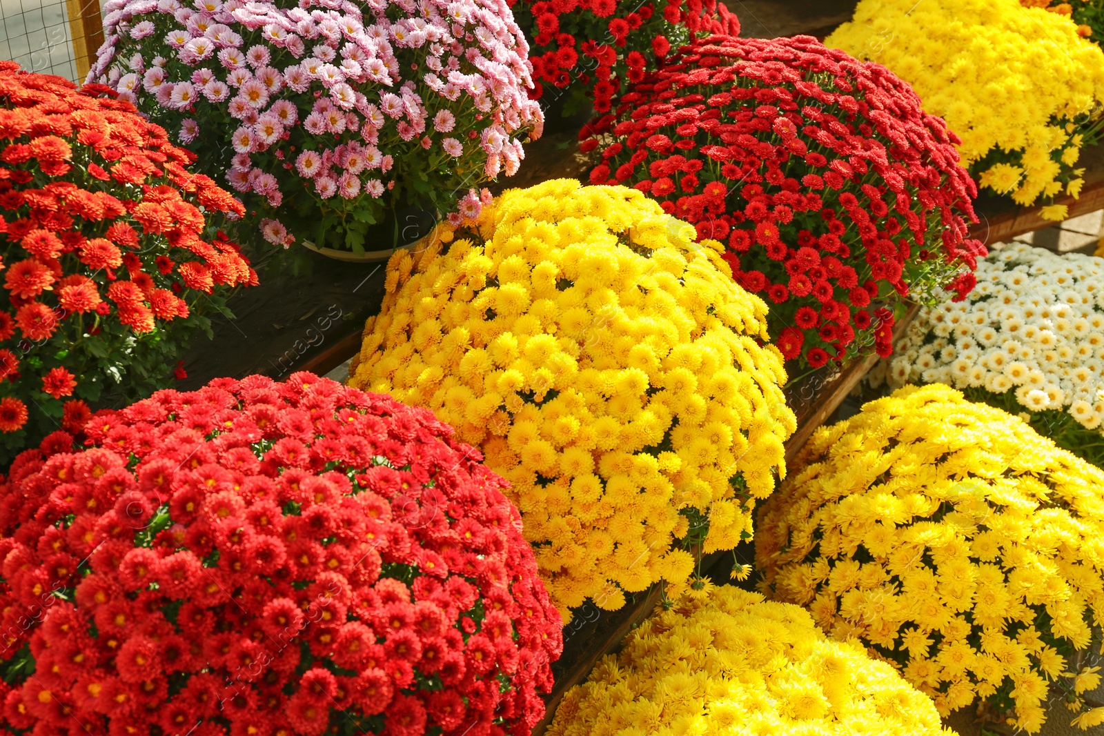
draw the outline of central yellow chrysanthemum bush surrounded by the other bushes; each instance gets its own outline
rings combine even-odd
[[[510,190],[397,253],[352,385],[432,408],[511,483],[561,611],[690,578],[751,536],[794,414],[766,306],[640,192]]]

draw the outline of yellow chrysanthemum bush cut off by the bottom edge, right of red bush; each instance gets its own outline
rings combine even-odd
[[[711,586],[710,586],[711,587]],[[656,612],[567,691],[549,736],[943,736],[932,702],[797,606],[731,586]]]

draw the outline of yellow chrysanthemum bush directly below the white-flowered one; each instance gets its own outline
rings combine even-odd
[[[1036,733],[1055,696],[1104,723],[1081,698],[1100,683],[1104,471],[940,384],[821,427],[794,470],[755,530],[769,596],[942,714],[988,698]]]

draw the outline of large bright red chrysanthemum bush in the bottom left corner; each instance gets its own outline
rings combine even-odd
[[[295,373],[161,391],[0,486],[0,715],[92,736],[528,734],[562,648],[501,478]]]

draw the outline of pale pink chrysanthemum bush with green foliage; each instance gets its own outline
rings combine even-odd
[[[105,10],[89,79],[134,99],[224,177],[244,195],[246,225],[275,245],[363,252],[369,226],[394,207],[450,212],[463,196],[478,209],[473,188],[513,173],[520,138],[543,126],[505,0],[110,0]]]

